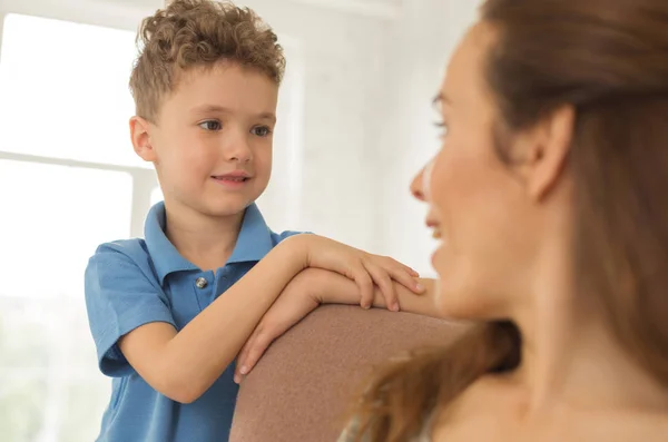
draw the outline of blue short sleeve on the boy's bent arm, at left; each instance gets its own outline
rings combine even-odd
[[[85,293],[88,323],[97,348],[100,371],[124,376],[132,367],[118,347],[118,340],[153,322],[175,325],[167,297],[150,272],[112,244],[101,245],[86,267]],[[176,326],[176,325],[175,325]]]

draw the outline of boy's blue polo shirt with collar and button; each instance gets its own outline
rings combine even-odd
[[[158,393],[128,364],[120,336],[165,322],[181,330],[282,239],[255,204],[244,215],[237,244],[224,267],[203,272],[165,236],[165,206],[146,219],[146,239],[102,244],[86,268],[86,306],[99,367],[112,377],[111,400],[98,442],[227,441],[237,396],[234,364],[197,401],[180,404]]]

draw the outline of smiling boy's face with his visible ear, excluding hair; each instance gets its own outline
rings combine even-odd
[[[272,171],[277,97],[267,76],[236,63],[179,75],[157,125],[138,117],[131,124],[135,150],[154,163],[165,203],[230,216],[257,199]]]

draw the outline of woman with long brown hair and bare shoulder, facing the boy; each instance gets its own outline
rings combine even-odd
[[[470,333],[386,366],[350,441],[665,441],[668,2],[488,0],[413,183],[443,315]]]

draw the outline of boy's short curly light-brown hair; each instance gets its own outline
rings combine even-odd
[[[130,76],[138,116],[156,120],[177,75],[227,60],[265,73],[277,85],[285,71],[274,31],[250,9],[229,1],[175,0],[143,20]]]

